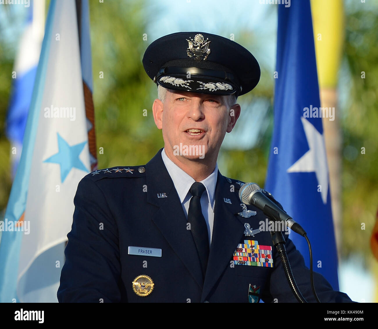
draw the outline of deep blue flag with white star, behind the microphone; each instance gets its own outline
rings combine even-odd
[[[290,7],[278,6],[276,65],[274,130],[265,189],[305,229],[313,251],[314,271],[338,290],[338,259],[309,0],[291,2]],[[291,232],[290,239],[310,267],[304,237]]]

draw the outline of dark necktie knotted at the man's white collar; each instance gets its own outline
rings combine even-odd
[[[190,223],[195,246],[197,247],[198,257],[200,258],[203,278],[205,277],[206,267],[209,259],[209,235],[208,226],[201,209],[201,195],[205,187],[200,182],[195,182],[189,192],[192,198],[189,203],[188,223]]]

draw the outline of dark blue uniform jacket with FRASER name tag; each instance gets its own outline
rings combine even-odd
[[[194,240],[161,150],[143,166],[88,174],[74,198],[58,301],[248,302],[251,285],[264,302],[297,302],[274,247],[273,267],[234,264],[234,252],[244,240],[272,246],[270,232],[244,235],[245,223],[258,229],[266,216],[253,206],[248,209],[256,215],[239,215],[237,182],[218,171],[212,242],[203,281]],[[162,193],[167,197],[161,197]],[[296,282],[307,301],[315,302],[304,259],[288,235],[283,235]],[[161,249],[161,257],[130,255],[129,246]],[[132,282],[141,274],[154,283],[148,296],[133,291]],[[321,302],[351,302],[345,293],[332,290],[321,274],[314,272],[314,282]]]

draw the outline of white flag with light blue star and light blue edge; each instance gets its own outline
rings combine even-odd
[[[0,221],[0,302],[57,302],[74,195],[94,164],[85,107],[91,86],[88,0],[51,0],[20,163]]]

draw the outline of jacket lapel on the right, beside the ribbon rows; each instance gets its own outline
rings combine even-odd
[[[218,171],[215,188],[214,226],[201,302],[206,300],[225,268],[230,266],[235,248],[244,234],[244,218],[237,215],[242,211],[241,201],[237,192],[230,191],[230,186],[231,183],[228,183]],[[238,186],[235,186],[235,189],[237,188]]]

